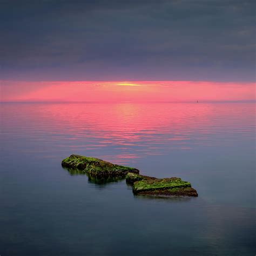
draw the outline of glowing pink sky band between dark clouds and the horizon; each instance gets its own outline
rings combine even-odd
[[[2,80],[1,101],[166,102],[253,100],[255,83],[195,81],[17,82]]]

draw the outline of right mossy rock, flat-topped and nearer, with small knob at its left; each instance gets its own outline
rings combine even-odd
[[[150,196],[188,196],[198,197],[197,191],[191,187],[191,183],[180,178],[157,179],[136,173],[127,173],[126,182],[132,184],[134,194]]]

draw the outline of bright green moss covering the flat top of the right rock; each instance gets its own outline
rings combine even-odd
[[[191,187],[191,184],[180,178],[147,179],[136,181],[133,184],[133,192],[167,190],[172,188]]]

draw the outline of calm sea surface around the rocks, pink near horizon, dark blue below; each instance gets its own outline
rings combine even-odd
[[[62,169],[71,153],[191,181],[133,196]],[[254,103],[2,103],[0,254],[255,255]]]

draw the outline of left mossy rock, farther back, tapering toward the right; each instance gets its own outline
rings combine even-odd
[[[62,166],[69,169],[77,169],[98,177],[125,177],[130,173],[139,173],[138,169],[116,165],[98,158],[78,156],[71,154],[62,161]]]

